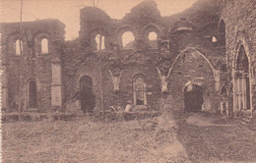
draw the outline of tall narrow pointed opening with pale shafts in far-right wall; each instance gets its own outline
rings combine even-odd
[[[238,111],[250,109],[249,60],[243,45],[240,45],[235,66],[234,108]]]

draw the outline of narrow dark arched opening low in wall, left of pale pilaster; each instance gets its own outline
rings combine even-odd
[[[37,99],[36,99],[36,83],[35,81],[29,81],[29,108],[37,107]]]

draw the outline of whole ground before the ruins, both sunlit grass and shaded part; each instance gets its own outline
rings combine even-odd
[[[256,162],[254,128],[204,119],[182,113],[108,123],[87,117],[4,123],[3,162]]]

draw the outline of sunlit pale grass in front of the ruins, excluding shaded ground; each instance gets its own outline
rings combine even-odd
[[[4,123],[3,162],[187,162],[168,121]]]

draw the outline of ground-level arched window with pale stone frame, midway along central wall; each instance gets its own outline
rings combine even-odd
[[[147,83],[141,75],[134,78],[133,99],[134,105],[147,105]]]

